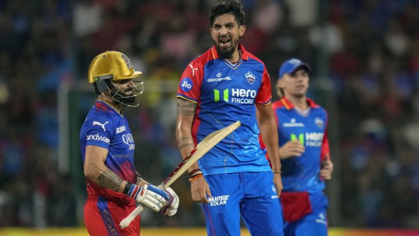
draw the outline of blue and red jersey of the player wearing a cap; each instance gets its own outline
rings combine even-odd
[[[329,154],[328,114],[324,108],[307,99],[309,113],[302,115],[285,97],[272,103],[278,124],[279,147],[299,140],[305,147],[302,156],[281,160],[284,191],[320,193],[325,188],[320,177],[321,161]]]

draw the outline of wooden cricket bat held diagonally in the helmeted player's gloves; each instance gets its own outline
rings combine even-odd
[[[242,125],[240,121],[235,121],[233,124],[226,126],[225,128],[221,128],[218,131],[214,131],[207,135],[203,140],[201,140],[198,145],[191,151],[189,156],[186,156],[184,160],[177,165],[175,170],[159,185],[161,189],[167,189],[173,182],[176,181],[186,170],[188,170],[193,163],[196,163],[201,157],[203,157],[210,149],[212,149],[216,144],[221,142],[224,138],[227,137],[230,133],[233,133],[237,128]],[[119,223],[120,228],[126,228],[135,217],[137,217],[144,207],[139,205],[137,208],[133,210],[125,219]]]

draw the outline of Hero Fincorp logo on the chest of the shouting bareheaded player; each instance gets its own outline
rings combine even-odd
[[[257,92],[253,89],[224,89],[221,94],[222,97],[220,91],[214,89],[214,102],[219,102],[221,99],[227,103],[254,104]]]

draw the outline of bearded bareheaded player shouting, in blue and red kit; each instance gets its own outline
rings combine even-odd
[[[210,12],[214,46],[186,66],[177,91],[176,137],[183,158],[206,135],[242,122],[189,168],[192,199],[203,202],[207,235],[240,235],[241,216],[251,235],[283,235],[270,77],[265,64],[240,45],[245,29],[239,1],[216,3]]]

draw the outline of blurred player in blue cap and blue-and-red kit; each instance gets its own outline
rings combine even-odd
[[[277,81],[281,98],[272,103],[279,133],[286,236],[328,235],[328,198],[323,193],[324,179],[333,172],[328,113],[307,98],[309,71],[309,64],[300,59],[285,61]]]

